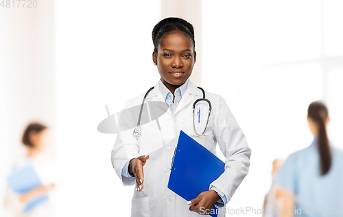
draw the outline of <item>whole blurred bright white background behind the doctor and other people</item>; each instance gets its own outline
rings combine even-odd
[[[343,148],[343,1],[37,1],[0,7],[0,200],[23,129],[40,120],[55,134],[57,216],[130,216],[116,135],[97,125],[105,105],[119,112],[158,81],[151,32],[167,16],[195,27],[191,80],[224,97],[252,149],[229,207],[262,207],[272,161],[312,141],[312,101],[327,103]]]

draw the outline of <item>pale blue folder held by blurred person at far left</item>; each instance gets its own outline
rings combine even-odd
[[[32,190],[42,183],[34,170],[34,166],[30,162],[27,164],[16,168],[7,178],[8,186],[17,194],[23,194],[29,190]],[[47,195],[38,196],[36,199],[29,201],[24,207],[23,212],[29,212],[31,209],[36,207],[36,205],[47,201],[49,197]]]

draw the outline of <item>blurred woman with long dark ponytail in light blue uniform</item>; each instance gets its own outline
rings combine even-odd
[[[290,210],[281,216],[343,216],[343,151],[327,137],[329,120],[324,103],[309,105],[307,122],[314,140],[289,155],[276,173],[283,209]]]

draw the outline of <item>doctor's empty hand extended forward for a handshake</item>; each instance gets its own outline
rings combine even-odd
[[[147,159],[149,159],[149,155],[142,155],[136,158],[132,158],[129,164],[129,173],[131,175],[133,174],[134,177],[136,177],[136,186],[137,186],[137,191],[139,192],[144,188],[143,166],[147,162]]]

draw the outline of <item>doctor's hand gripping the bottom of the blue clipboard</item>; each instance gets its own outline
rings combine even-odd
[[[214,190],[208,190],[201,192],[196,199],[188,201],[190,207],[189,210],[197,212],[200,215],[208,215],[211,213],[211,209],[215,202],[220,199],[220,196]],[[196,204],[196,205],[195,205]]]

